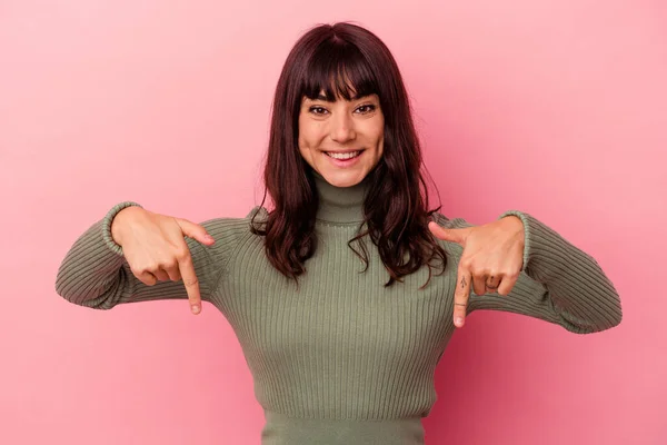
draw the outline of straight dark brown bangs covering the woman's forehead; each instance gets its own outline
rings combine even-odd
[[[379,93],[370,65],[354,44],[325,41],[312,55],[303,73],[302,96],[317,99],[323,91],[327,101],[354,100]]]

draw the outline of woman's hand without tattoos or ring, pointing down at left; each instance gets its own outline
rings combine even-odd
[[[113,217],[111,236],[141,283],[153,286],[157,281],[182,279],[192,314],[201,312],[199,280],[183,236],[207,246],[215,244],[202,226],[131,206]]]

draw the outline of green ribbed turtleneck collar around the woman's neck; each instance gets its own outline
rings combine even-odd
[[[351,187],[332,186],[315,169],[312,175],[319,196],[317,219],[338,224],[364,221],[364,198],[369,175]]]

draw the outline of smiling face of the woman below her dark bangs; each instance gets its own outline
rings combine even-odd
[[[299,150],[327,182],[359,184],[382,157],[385,116],[377,95],[335,102],[303,98],[299,112]]]

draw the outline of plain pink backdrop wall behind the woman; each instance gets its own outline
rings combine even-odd
[[[201,221],[259,202],[297,38],[389,46],[450,218],[528,211],[593,255],[619,327],[477,313],[437,372],[434,444],[667,443],[667,8],[660,0],[0,1],[0,443],[259,444],[236,337],[206,304],[54,293],[115,204]]]

